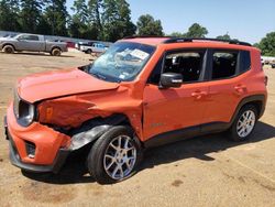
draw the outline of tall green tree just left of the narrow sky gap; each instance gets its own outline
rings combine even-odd
[[[52,35],[65,36],[68,34],[66,28],[68,18],[66,0],[47,0],[44,18],[51,26]]]

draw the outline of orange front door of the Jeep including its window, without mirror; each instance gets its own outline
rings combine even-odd
[[[204,50],[185,50],[168,52],[160,59],[144,88],[145,140],[185,128],[199,132],[208,92],[208,87],[201,81],[206,67],[205,56]],[[161,89],[158,83],[162,72],[180,73],[184,84],[180,88]]]

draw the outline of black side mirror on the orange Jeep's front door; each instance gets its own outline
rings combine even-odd
[[[176,73],[164,73],[161,76],[161,88],[179,88],[183,84],[183,75]]]

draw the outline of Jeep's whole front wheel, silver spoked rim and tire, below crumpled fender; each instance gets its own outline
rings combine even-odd
[[[131,177],[141,160],[142,148],[136,138],[133,138],[132,130],[125,126],[117,126],[102,134],[92,145],[87,157],[87,166],[98,183],[113,184]]]

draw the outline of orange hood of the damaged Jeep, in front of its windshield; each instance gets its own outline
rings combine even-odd
[[[110,90],[118,87],[119,84],[117,83],[97,79],[75,68],[26,76],[19,80],[18,94],[22,99],[29,102],[35,102],[43,99]]]

